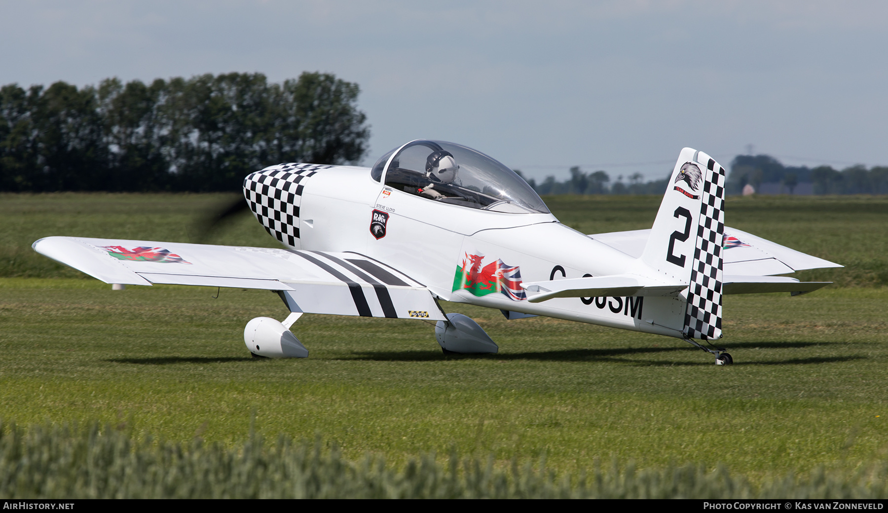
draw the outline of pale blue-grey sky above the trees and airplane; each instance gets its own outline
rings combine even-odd
[[[365,163],[412,138],[528,175],[888,164],[888,3],[0,2],[0,83],[323,71],[361,85]]]

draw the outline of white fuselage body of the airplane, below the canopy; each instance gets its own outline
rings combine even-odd
[[[685,304],[675,297],[527,302],[522,282],[620,274],[638,264],[559,223],[551,213],[467,208],[387,186],[371,178],[370,168],[318,168],[276,185],[299,192],[281,195],[281,209],[288,209],[289,200],[290,211],[297,213],[290,215],[292,226],[281,228],[280,220],[275,224],[274,213],[258,215],[269,233],[291,249],[360,253],[408,274],[447,301],[680,336]],[[248,201],[262,173],[274,170],[245,180]],[[654,318],[674,319],[676,326],[654,324]]]

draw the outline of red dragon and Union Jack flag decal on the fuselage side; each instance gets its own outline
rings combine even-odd
[[[466,251],[463,261],[456,265],[453,289],[465,289],[474,296],[487,296],[500,293],[513,301],[527,299],[527,292],[521,288],[521,272],[518,265],[508,265],[503,260],[490,259],[485,265],[486,256]]]

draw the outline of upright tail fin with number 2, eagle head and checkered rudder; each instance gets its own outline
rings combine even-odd
[[[708,154],[678,155],[641,260],[688,285],[684,333],[721,338],[725,169]]]

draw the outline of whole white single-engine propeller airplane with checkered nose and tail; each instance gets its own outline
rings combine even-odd
[[[306,357],[303,313],[437,320],[445,353],[495,353],[480,326],[439,299],[681,338],[733,359],[722,296],[805,294],[829,282],[777,276],[841,267],[725,226],[725,170],[684,148],[650,230],[579,233],[527,183],[466,146],[414,140],[372,168],[289,163],[243,180],[250,210],[283,248],[47,237],[37,252],[114,284],[276,291],[279,322],[250,320],[254,356]]]

